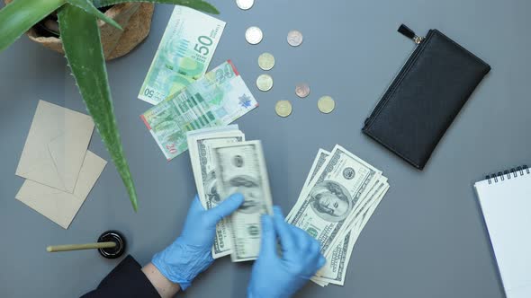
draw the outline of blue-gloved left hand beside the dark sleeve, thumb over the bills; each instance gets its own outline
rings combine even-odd
[[[211,255],[216,236],[216,223],[230,215],[243,203],[244,198],[235,194],[219,206],[205,210],[199,197],[195,196],[188,210],[183,232],[166,250],[158,252],[151,263],[167,279],[181,286],[183,291],[192,285],[192,280],[206,270],[214,261]]]

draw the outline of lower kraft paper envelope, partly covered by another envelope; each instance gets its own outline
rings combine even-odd
[[[16,198],[54,223],[67,229],[105,167],[101,157],[87,151],[74,193],[67,193],[32,180],[25,180]]]

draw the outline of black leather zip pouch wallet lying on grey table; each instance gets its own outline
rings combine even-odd
[[[363,132],[419,170],[491,66],[437,30],[421,38],[383,94]]]

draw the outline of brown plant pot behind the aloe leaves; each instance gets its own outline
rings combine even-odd
[[[13,0],[4,0],[5,4]],[[103,54],[106,60],[121,57],[129,53],[133,48],[146,39],[151,29],[151,18],[153,17],[153,4],[146,3],[125,3],[116,4],[109,8],[105,15],[118,22],[123,28],[120,31],[111,25],[98,20],[98,26],[102,36]],[[35,27],[26,32],[28,37],[40,43],[46,48],[64,54],[61,39],[51,36],[43,36]]]

